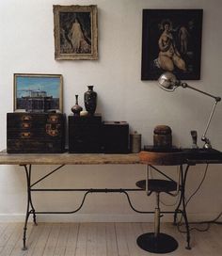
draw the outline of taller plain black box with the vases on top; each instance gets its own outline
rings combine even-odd
[[[69,152],[102,152],[102,117],[69,116]]]

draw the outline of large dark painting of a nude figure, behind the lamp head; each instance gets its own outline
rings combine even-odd
[[[200,79],[202,9],[143,9],[141,80]]]

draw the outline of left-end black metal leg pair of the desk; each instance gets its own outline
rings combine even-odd
[[[32,171],[32,166],[29,165],[29,167],[27,168],[26,165],[24,165],[24,170],[25,170],[25,174],[26,174],[26,185],[27,185],[27,207],[26,207],[26,215],[25,215],[25,220],[24,220],[24,248],[23,249],[27,249],[26,248],[26,231],[27,231],[27,222],[28,222],[28,217],[30,216],[30,214],[33,215],[33,221],[35,223],[35,225],[37,225],[36,222],[36,212],[35,212],[35,208],[33,206],[32,203],[32,197],[31,197],[31,171]]]

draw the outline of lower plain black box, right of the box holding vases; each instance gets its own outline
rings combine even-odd
[[[103,152],[129,152],[129,124],[126,121],[103,121]]]

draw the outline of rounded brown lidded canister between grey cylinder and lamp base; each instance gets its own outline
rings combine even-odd
[[[167,125],[157,125],[153,131],[153,145],[159,148],[172,147],[172,130]]]

